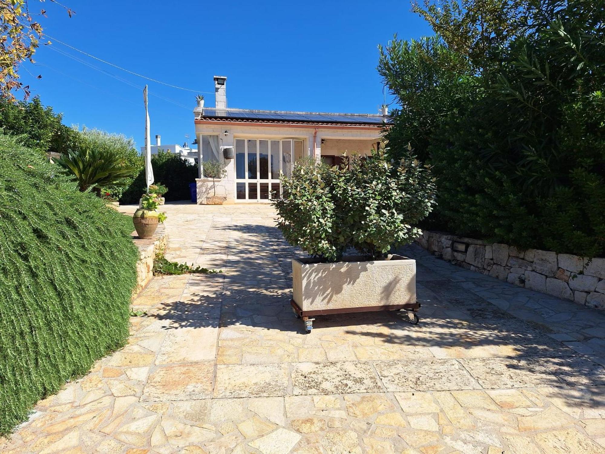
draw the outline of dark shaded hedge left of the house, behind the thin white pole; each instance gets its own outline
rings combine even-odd
[[[189,183],[197,178],[197,165],[183,159],[180,154],[159,150],[151,156],[151,165],[155,180],[164,183],[168,188],[166,200],[187,200],[191,197]],[[120,203],[139,203],[141,194],[147,190],[145,183],[145,163],[143,162],[139,174],[123,192]]]

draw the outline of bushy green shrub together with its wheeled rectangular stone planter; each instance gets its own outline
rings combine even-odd
[[[411,150],[399,162],[385,151],[348,166],[302,160],[281,178],[277,226],[310,255],[292,260],[292,308],[307,333],[320,314],[403,309],[418,321],[416,261],[388,252],[421,234],[413,225],[433,208],[435,183]]]

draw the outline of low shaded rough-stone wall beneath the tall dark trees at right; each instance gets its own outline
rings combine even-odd
[[[433,255],[455,265],[537,292],[605,309],[605,258],[583,258],[538,249],[424,231],[416,239]]]

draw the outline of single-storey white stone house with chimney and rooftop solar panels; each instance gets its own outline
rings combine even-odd
[[[194,109],[200,165],[198,203],[214,195],[212,179],[202,177],[203,163],[220,160],[226,177],[216,181],[224,203],[269,202],[281,193],[280,174],[289,175],[302,156],[330,165],[345,153],[369,153],[381,140],[388,122],[380,114],[335,114],[227,108],[227,77],[214,76],[215,107]],[[225,159],[225,156],[233,156]]]

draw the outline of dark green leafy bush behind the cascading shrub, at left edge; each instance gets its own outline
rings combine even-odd
[[[62,153],[67,150],[73,131],[62,122],[62,115],[52,107],[42,105],[39,96],[30,102],[13,102],[0,97],[0,130],[19,136],[27,148],[43,153]]]

